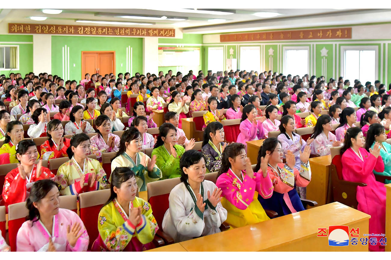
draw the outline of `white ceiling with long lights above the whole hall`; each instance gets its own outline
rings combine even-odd
[[[233,12],[233,14],[200,14],[184,12],[183,9],[157,7],[151,9],[63,9],[60,14],[44,14],[42,9],[0,9],[0,22],[15,23],[48,23],[81,25],[75,20],[121,21],[152,23],[145,27],[181,28],[184,33],[215,33],[266,28],[310,27],[332,24],[370,23],[391,21],[389,15],[376,15],[377,12],[388,13],[390,9],[208,9],[213,11]],[[178,12],[174,12],[178,10]],[[204,10],[204,9],[198,9]],[[256,12],[278,12],[273,18],[255,16]],[[165,20],[127,19],[120,16],[167,16]],[[45,21],[30,20],[30,16],[46,16]],[[349,17],[352,19],[349,20]],[[354,16],[354,18],[353,18]],[[172,21],[170,18],[181,18],[184,21]],[[225,19],[225,21],[208,21],[208,19]],[[317,22],[316,22],[317,21]],[[84,23],[85,25],[96,25]],[[273,27],[274,25],[274,27]],[[126,26],[126,25],[120,25]],[[144,27],[143,25],[129,25]]]

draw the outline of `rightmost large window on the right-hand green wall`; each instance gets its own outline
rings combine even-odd
[[[373,85],[377,75],[376,50],[345,50],[344,51],[344,79],[353,82],[359,79],[364,85],[369,81]]]

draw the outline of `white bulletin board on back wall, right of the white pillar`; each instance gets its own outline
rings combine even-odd
[[[160,67],[199,66],[200,48],[197,47],[158,47]]]

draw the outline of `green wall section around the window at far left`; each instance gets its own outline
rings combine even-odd
[[[19,45],[19,70],[13,69],[13,73],[21,73],[22,77],[32,71],[32,35],[0,35],[1,45]],[[7,43],[12,42],[12,43]],[[25,42],[25,43],[15,43]],[[26,43],[27,42],[27,43]],[[9,75],[10,71],[0,70],[0,74]]]

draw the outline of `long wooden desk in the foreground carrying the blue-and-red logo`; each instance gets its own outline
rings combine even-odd
[[[180,242],[187,251],[368,251],[368,245],[328,246],[318,228],[347,225],[368,234],[370,215],[339,202]],[[245,242],[244,242],[245,241]],[[174,250],[174,244],[172,245]]]

